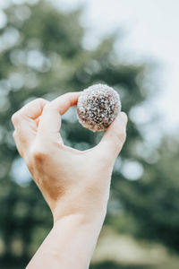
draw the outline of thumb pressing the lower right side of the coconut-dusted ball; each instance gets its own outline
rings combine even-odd
[[[127,115],[120,112],[98,143],[100,155],[105,155],[107,159],[115,161],[125,142],[126,125]]]

